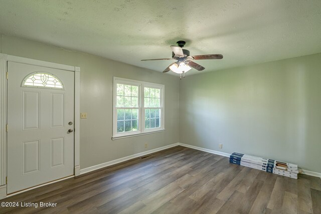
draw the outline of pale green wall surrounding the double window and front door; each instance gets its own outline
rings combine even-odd
[[[179,142],[179,78],[105,58],[10,36],[2,36],[2,52],[79,66],[81,169]],[[106,51],[108,51],[106,49]],[[165,85],[166,131],[111,140],[113,76]],[[144,148],[148,143],[148,148]]]

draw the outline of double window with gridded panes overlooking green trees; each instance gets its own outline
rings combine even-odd
[[[164,130],[164,85],[114,77],[113,138]]]

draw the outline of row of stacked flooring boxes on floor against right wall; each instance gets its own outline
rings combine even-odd
[[[233,152],[230,162],[297,179],[297,165]]]

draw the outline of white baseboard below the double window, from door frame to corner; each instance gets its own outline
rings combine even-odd
[[[100,169],[100,168],[103,168],[103,167],[106,167],[106,166],[110,166],[110,165],[114,165],[114,164],[117,164],[117,163],[121,163],[121,162],[124,162],[126,160],[130,160],[130,159],[133,159],[133,158],[136,158],[136,157],[140,157],[140,156],[143,156],[143,155],[146,155],[146,154],[154,153],[154,152],[161,151],[161,150],[164,150],[164,149],[168,149],[168,148],[171,148],[171,147],[174,147],[174,146],[178,146],[178,145],[179,145],[179,143],[174,143],[174,144],[171,144],[171,145],[167,145],[167,146],[151,149],[151,150],[148,150],[148,151],[140,152],[140,153],[137,153],[137,154],[129,155],[129,156],[126,156],[126,157],[122,157],[122,158],[119,158],[119,159],[116,159],[116,160],[111,160],[111,161],[108,161],[108,162],[105,162],[105,163],[100,163],[100,164],[97,164],[97,165],[94,165],[94,166],[90,166],[90,167],[87,167],[87,168],[84,168],[84,169],[80,169],[80,174],[85,174],[85,173],[88,173],[88,172],[91,172],[91,171],[94,171],[94,170],[97,170],[97,169]]]

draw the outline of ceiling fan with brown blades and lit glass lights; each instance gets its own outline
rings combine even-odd
[[[172,48],[172,58],[165,58],[165,59],[148,59],[148,60],[141,60],[141,61],[151,61],[151,60],[176,60],[176,62],[172,63],[167,67],[163,73],[173,71],[177,74],[182,74],[185,77],[185,73],[191,70],[192,68],[203,71],[205,68],[192,60],[220,60],[223,59],[222,54],[208,54],[208,55],[196,55],[190,56],[190,52],[186,49],[182,49],[185,46],[185,41],[178,41],[177,46],[171,46]]]

